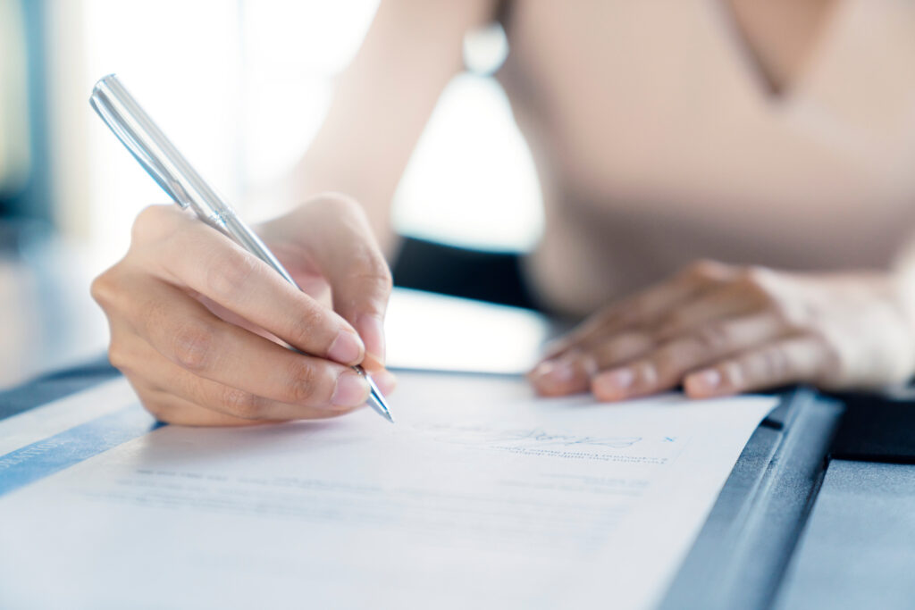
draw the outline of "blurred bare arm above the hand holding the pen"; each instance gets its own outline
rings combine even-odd
[[[461,70],[464,33],[488,18],[489,5],[382,2],[296,168],[297,197],[333,190],[356,198],[393,254],[394,191],[439,94]]]

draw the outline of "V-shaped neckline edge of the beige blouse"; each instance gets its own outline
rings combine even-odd
[[[833,5],[823,10],[823,16],[820,16],[811,31],[813,39],[807,44],[802,58],[798,59],[797,69],[789,79],[779,82],[775,77],[775,70],[767,66],[765,59],[761,57],[759,47],[753,44],[746,28],[741,25],[731,0],[713,1],[721,14],[724,27],[727,29],[727,38],[737,52],[741,65],[750,73],[759,93],[774,103],[790,100],[799,89],[802,89],[804,82],[811,78],[818,60],[823,55],[823,49],[829,47],[834,37],[836,22],[847,4],[845,0],[832,0]]]

